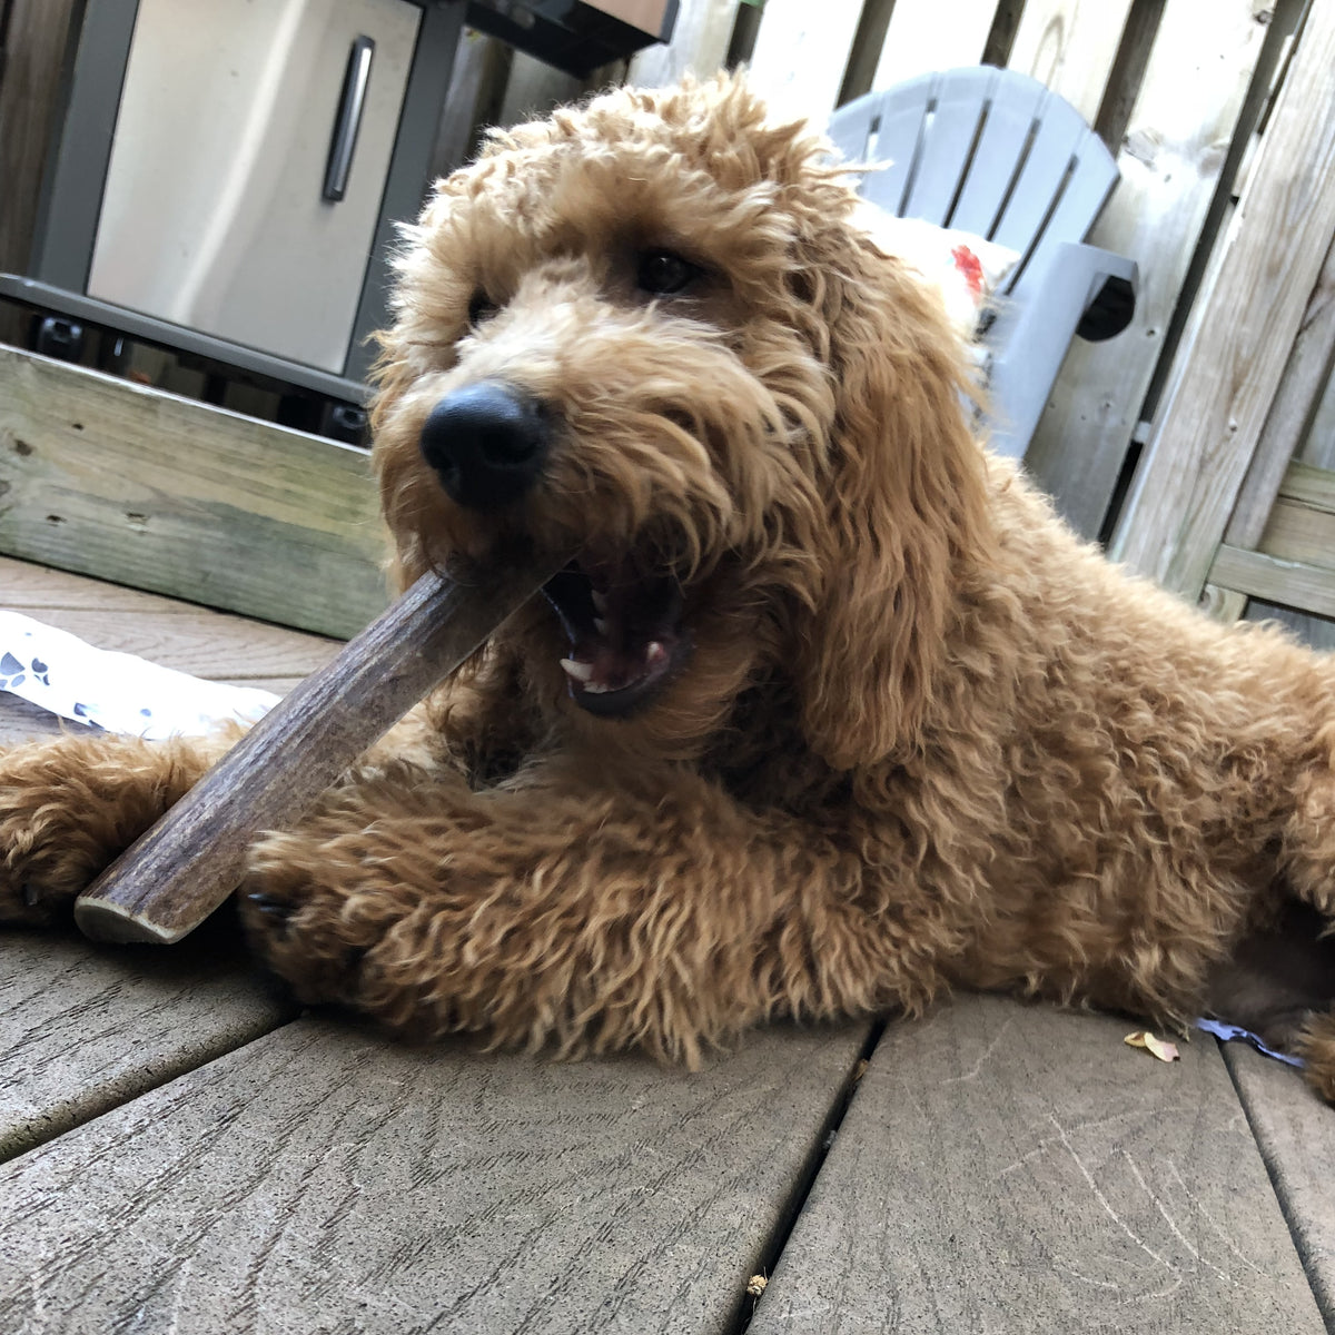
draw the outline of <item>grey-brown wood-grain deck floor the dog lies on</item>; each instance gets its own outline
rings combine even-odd
[[[0,606],[276,689],[334,647],[4,558]],[[1335,1330],[1335,1111],[1200,1035],[964,997],[696,1075],[414,1049],[226,924],[4,933],[0,1027],[7,1335]]]

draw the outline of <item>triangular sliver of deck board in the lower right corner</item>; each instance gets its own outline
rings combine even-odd
[[[1290,1071],[1230,1043],[1224,1060],[1327,1327],[1335,1330],[1335,1115]]]

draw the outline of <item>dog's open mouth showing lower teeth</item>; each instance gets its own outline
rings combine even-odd
[[[690,653],[682,591],[673,575],[643,574],[631,559],[579,557],[543,585],[570,655],[570,696],[607,718],[646,705]]]

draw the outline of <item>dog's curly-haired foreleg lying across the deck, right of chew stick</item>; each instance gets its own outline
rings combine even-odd
[[[368,776],[256,846],[252,943],[306,1001],[567,1053],[694,1061],[770,1015],[936,989],[930,937],[860,904],[850,850],[694,776],[631,782]]]

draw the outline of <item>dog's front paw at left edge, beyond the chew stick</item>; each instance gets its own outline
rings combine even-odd
[[[0,756],[0,922],[60,916],[230,741],[89,733]]]

